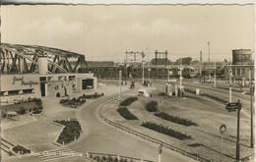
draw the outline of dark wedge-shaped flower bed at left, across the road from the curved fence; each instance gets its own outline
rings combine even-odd
[[[59,135],[57,142],[61,144],[67,144],[72,142],[73,140],[79,138],[80,134],[82,133],[81,126],[77,120],[72,120],[72,121],[54,121],[56,123],[59,123],[65,128]]]

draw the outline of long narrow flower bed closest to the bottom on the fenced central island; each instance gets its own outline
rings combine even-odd
[[[175,130],[169,129],[165,126],[158,125],[158,124],[151,123],[151,122],[143,123],[141,126],[143,126],[145,128],[148,128],[148,129],[151,129],[151,130],[154,130],[154,131],[157,131],[157,132],[159,132],[161,134],[164,134],[164,135],[169,135],[169,136],[178,138],[180,140],[185,140],[185,139],[192,138],[190,135],[186,135],[186,134],[177,132]]]

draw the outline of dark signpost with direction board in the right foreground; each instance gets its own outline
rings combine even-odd
[[[240,111],[242,108],[242,104],[240,103],[240,100],[238,99],[237,102],[230,102],[226,104],[225,109],[230,111],[236,111],[237,112],[237,134],[236,134],[236,160],[240,160],[240,143],[239,143],[239,137],[240,137]]]

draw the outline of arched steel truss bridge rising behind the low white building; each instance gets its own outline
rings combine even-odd
[[[38,58],[47,57],[48,73],[76,73],[88,67],[85,55],[57,48],[1,43],[2,74],[38,73]]]

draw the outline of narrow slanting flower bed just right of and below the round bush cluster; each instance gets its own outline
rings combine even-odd
[[[157,117],[160,117],[161,119],[164,119],[164,120],[167,120],[167,121],[179,124],[179,125],[198,126],[196,123],[194,123],[190,120],[180,118],[180,117],[176,117],[176,116],[172,116],[172,115],[166,114],[164,112],[158,112],[158,113],[155,113],[154,115],[157,116]]]

